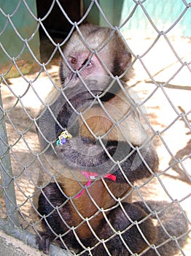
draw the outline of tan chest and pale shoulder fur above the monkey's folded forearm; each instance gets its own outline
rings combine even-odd
[[[147,134],[140,124],[130,102],[124,99],[122,91],[108,102],[103,109],[95,105],[82,114],[79,120],[80,136],[93,138],[103,136],[105,140],[130,141],[134,146],[141,145]],[[83,110],[82,110],[83,112]]]

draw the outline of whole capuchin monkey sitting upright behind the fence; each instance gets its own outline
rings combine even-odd
[[[44,154],[54,152],[63,167],[39,196],[46,229],[39,249],[48,253],[60,239],[80,255],[174,255],[187,238],[184,213],[175,203],[130,197],[135,181],[158,168],[125,89],[133,75],[130,52],[117,31],[79,30],[63,49],[61,91],[37,118]]]

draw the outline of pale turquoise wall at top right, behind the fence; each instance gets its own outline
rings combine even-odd
[[[85,0],[85,10],[90,2],[90,0]],[[134,9],[132,17],[122,28],[122,33],[126,37],[155,37],[157,35],[144,10],[140,5],[136,7],[133,0],[99,0],[99,4],[106,18],[114,26],[122,24]],[[181,13],[187,10],[168,34],[169,36],[191,37],[191,8],[187,8],[182,0],[146,0],[143,7],[159,31],[167,31]],[[87,21],[100,26],[108,26],[95,4],[87,16]]]

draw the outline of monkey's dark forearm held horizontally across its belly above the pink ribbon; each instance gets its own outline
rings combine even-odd
[[[136,151],[126,142],[108,141],[102,146],[99,141],[76,137],[55,150],[63,165],[100,176],[113,173],[118,182],[149,177],[157,169],[157,154],[152,145]]]

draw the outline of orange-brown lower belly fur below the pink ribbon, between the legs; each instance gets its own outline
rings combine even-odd
[[[84,176],[82,176],[82,179],[84,179]],[[105,182],[110,192],[116,198],[122,197],[128,192],[128,186],[124,186],[124,184],[117,184],[114,183],[114,181],[109,181],[107,179],[105,180]],[[82,184],[82,186],[79,184],[79,182],[64,177],[62,179],[61,187],[63,188],[67,196],[74,197],[75,195],[79,194],[82,187],[84,187],[87,182],[81,181],[80,183]],[[82,224],[83,219],[90,218],[90,226],[93,228],[93,230],[97,230],[99,225],[101,224],[102,219],[104,218],[104,215],[100,212],[100,209],[108,209],[116,204],[116,201],[107,191],[104,182],[100,179],[92,182],[90,187],[88,187],[88,193],[85,189],[83,194],[78,198],[74,197],[72,199],[72,202],[74,203],[75,207],[72,203],[69,203],[72,216],[70,225],[77,227],[81,223],[81,225],[77,227],[76,232],[79,238],[82,239],[92,236],[92,231],[88,227],[87,222]],[[109,211],[106,211],[106,214],[108,213]],[[80,214],[82,215],[82,217],[80,216]]]

